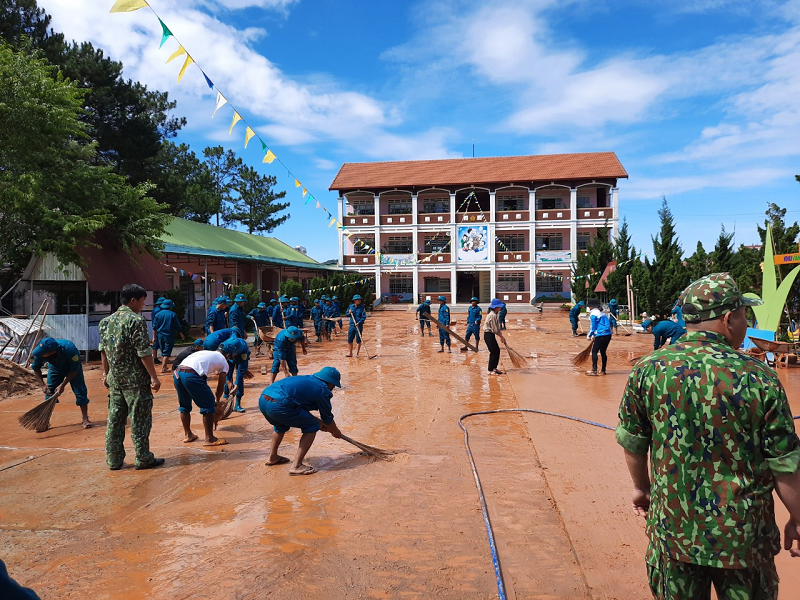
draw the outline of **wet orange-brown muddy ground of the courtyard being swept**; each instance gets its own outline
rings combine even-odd
[[[44,434],[17,424],[40,395],[2,401],[0,558],[46,599],[497,597],[458,417],[525,407],[613,426],[627,359],[652,347],[650,335],[617,337],[609,375],[585,377],[569,360],[586,342],[569,335],[565,313],[509,317],[509,343],[532,358],[508,376],[487,375],[483,345],[479,354],[438,354],[437,339],[420,338],[403,312],[368,321],[379,358],[345,358],[343,337],[312,344],[300,371],[342,371],[342,430],[405,452],[374,462],[321,433],[308,459],[319,473],[307,477],[264,465],[263,358],[251,367],[247,412],[220,424],[230,442],[222,449],[182,443],[175,391],[162,376],[150,439],[167,463],[151,471],[133,469],[129,442],[126,468],[107,470],[97,368],[86,372],[93,429],[80,427],[71,392]],[[781,377],[800,414],[800,369]],[[516,413],[466,424],[510,598],[649,597],[644,526],[628,508],[612,432]],[[291,456],[297,439],[287,434],[282,453]],[[781,598],[800,594],[798,564],[778,557]]]

